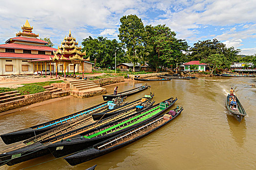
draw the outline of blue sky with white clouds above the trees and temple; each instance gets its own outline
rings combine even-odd
[[[81,45],[91,36],[118,40],[120,18],[137,15],[144,26],[166,24],[190,46],[213,38],[244,55],[256,53],[255,0],[0,0],[0,44],[26,19],[33,33],[57,48],[71,30]]]

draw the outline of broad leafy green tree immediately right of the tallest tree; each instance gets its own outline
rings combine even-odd
[[[179,63],[184,55],[182,51],[187,51],[187,42],[175,38],[176,33],[171,31],[166,25],[146,26],[147,33],[147,56],[149,63],[158,72],[159,66],[167,67]]]

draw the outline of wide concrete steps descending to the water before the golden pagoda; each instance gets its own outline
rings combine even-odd
[[[89,80],[72,80],[72,81],[69,81],[69,84],[70,84],[71,90],[77,90],[77,91],[99,87],[99,85]]]

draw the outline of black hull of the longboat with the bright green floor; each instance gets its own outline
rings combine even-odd
[[[123,133],[124,131],[126,131],[128,129],[131,129],[131,128],[139,125],[139,124],[144,123],[145,121],[148,121],[150,119],[153,119],[153,118],[157,117],[158,115],[160,115],[163,112],[165,112],[166,110],[168,110],[176,101],[177,101],[177,98],[172,103],[170,103],[170,105],[167,108],[163,109],[161,112],[159,112],[156,115],[150,117],[149,119],[141,121],[141,122],[139,122],[137,124],[134,124],[132,126],[124,128],[122,130],[119,130],[117,132],[113,132],[113,133],[110,133],[110,134],[107,134],[107,135],[91,138],[89,140],[85,139],[85,138],[80,138],[81,136],[76,136],[77,138],[72,139],[71,141],[56,142],[56,143],[53,143],[51,145],[48,145],[47,148],[50,150],[50,152],[55,157],[62,157],[62,156],[65,156],[67,154],[71,154],[71,153],[75,153],[75,152],[78,152],[78,151],[82,151],[82,150],[84,150],[84,149],[86,149],[88,147],[93,146],[94,144],[96,144],[96,143],[98,143],[100,141],[103,141],[103,140],[106,140],[107,138],[110,138],[111,136],[115,136],[115,135],[121,134],[121,133]],[[154,107],[154,106],[151,106],[151,107]],[[149,107],[149,108],[151,108],[151,107]],[[144,111],[144,110],[142,110],[142,111]],[[142,111],[140,111],[140,112],[142,112]],[[138,112],[138,113],[140,113],[140,112]],[[126,119],[126,118],[123,118],[123,119]]]

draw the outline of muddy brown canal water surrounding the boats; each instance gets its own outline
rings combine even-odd
[[[256,78],[210,77],[192,80],[147,82],[151,88],[127,101],[150,92],[161,102],[177,97],[182,114],[166,126],[124,148],[70,166],[52,155],[36,158],[1,170],[256,170]],[[125,91],[145,82],[119,84]],[[115,85],[106,86],[108,94]],[[247,115],[241,123],[226,109],[226,96],[233,87]],[[103,102],[102,96],[68,98],[0,117],[0,134],[57,119]],[[0,150],[6,148],[0,139]],[[39,164],[39,165],[38,165]]]

